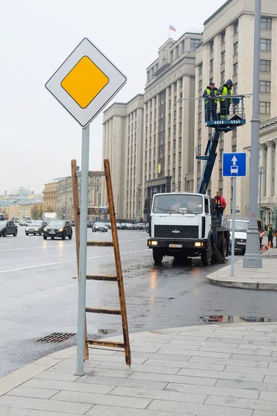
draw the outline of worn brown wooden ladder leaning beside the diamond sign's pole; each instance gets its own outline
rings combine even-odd
[[[86,307],[87,313],[107,313],[112,315],[121,315],[122,329],[123,329],[123,342],[92,340],[87,338],[87,320],[85,322],[85,340],[84,340],[84,360],[89,359],[89,345],[111,348],[123,348],[125,350],[125,362],[127,365],[131,365],[131,350],[129,346],[129,331],[127,323],[127,312],[125,303],[125,293],[123,284],[123,273],[120,261],[120,250],[118,244],[118,234],[116,227],[116,213],[114,211],[114,196],[111,186],[111,171],[109,168],[109,160],[104,160],[105,171],[89,171],[89,177],[105,176],[107,197],[109,202],[109,218],[111,221],[111,236],[112,241],[87,241],[88,247],[113,247],[114,259],[116,263],[116,275],[87,275],[87,280],[100,280],[100,281],[117,281],[120,309],[99,309]],[[79,206],[79,193],[78,193],[78,177],[81,175],[80,171],[76,170],[76,161],[71,160],[71,177],[72,177],[72,193],[73,193],[73,209],[75,217],[75,241],[76,241],[76,257],[77,257],[77,270],[79,281],[79,251],[80,251],[80,206]],[[94,214],[93,207],[88,207],[88,214]]]

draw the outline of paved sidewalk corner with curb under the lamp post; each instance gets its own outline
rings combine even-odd
[[[244,268],[240,260],[235,262],[233,276],[230,265],[206,276],[206,282],[229,288],[277,291],[277,249],[262,254],[262,268]]]

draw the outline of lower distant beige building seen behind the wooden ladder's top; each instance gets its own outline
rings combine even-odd
[[[81,177],[78,176],[78,191],[80,200]],[[101,180],[100,177],[89,177],[89,207],[100,207],[101,205]],[[73,196],[71,176],[63,177],[57,181],[57,216],[62,220],[73,220]],[[95,216],[88,216],[96,219]]]

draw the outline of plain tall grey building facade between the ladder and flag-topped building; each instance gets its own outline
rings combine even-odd
[[[104,112],[102,157],[109,159],[116,217],[141,217],[143,159],[143,94],[128,103],[114,103]],[[107,206],[105,178],[102,178],[102,206]]]

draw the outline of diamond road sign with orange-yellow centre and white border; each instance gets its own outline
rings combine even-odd
[[[123,73],[84,38],[45,86],[74,119],[85,127],[126,81]]]

